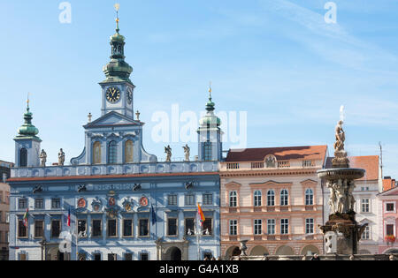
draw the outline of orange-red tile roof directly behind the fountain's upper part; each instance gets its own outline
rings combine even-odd
[[[328,157],[326,161],[326,169],[332,168],[333,157]],[[365,169],[366,174],[359,180],[377,180],[379,179],[379,155],[368,156],[350,156],[349,167],[357,169]]]

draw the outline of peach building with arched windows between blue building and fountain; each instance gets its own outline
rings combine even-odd
[[[258,149],[263,157],[244,152],[228,154],[220,167],[221,253],[232,256],[241,240],[248,240],[249,255],[323,253],[317,170],[327,147]]]

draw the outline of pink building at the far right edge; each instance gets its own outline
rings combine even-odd
[[[379,199],[379,253],[398,253],[398,187],[393,187],[378,195]]]

